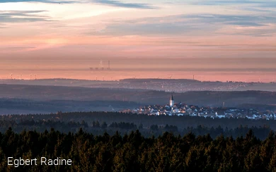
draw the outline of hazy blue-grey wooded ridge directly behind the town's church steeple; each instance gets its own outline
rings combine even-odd
[[[40,85],[0,85],[2,99],[37,101],[125,101],[138,104],[168,104],[171,92],[125,88],[88,88]],[[197,91],[174,93],[176,102],[198,106],[239,106],[241,104],[276,104],[276,92],[264,91]],[[252,107],[254,108],[254,107]]]

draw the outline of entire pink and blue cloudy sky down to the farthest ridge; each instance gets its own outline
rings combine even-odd
[[[275,16],[276,1],[4,0],[0,78],[274,82]]]

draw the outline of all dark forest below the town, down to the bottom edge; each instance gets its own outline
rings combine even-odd
[[[275,121],[115,112],[0,118],[0,171],[276,171]],[[8,157],[38,164],[16,167]]]

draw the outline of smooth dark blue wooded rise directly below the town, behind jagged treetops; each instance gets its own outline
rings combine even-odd
[[[270,126],[272,130],[276,130],[276,121],[271,120],[251,120],[247,118],[204,118],[199,116],[148,116],[144,114],[136,113],[120,113],[120,112],[70,112],[70,113],[52,113],[52,114],[36,114],[36,115],[8,115],[0,116],[0,119],[7,121],[61,121],[68,123],[69,121],[79,122],[85,121],[88,126],[93,125],[93,121],[98,121],[100,124],[105,122],[108,125],[111,123],[134,123],[139,126],[141,123],[144,128],[149,128],[151,125],[175,125],[178,130],[184,128],[193,127],[196,128],[198,125],[202,125],[208,128],[222,128],[234,129],[239,125],[250,127],[259,126]]]

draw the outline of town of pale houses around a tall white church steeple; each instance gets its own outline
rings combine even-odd
[[[237,109],[229,107],[200,107],[195,105],[175,103],[173,94],[169,104],[166,105],[149,105],[130,110],[132,113],[148,114],[150,116],[202,116],[205,118],[248,118],[248,119],[265,119],[276,120],[274,111],[258,111],[255,109]]]

